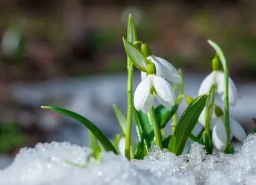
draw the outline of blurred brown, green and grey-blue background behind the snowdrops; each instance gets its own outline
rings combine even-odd
[[[254,0],[1,0],[0,168],[20,147],[37,142],[88,145],[84,126],[40,105],[74,110],[110,138],[120,133],[112,105],[126,112],[122,37],[129,13],[139,40],[184,71],[185,92],[194,98],[211,72],[214,51],[207,40],[216,41],[239,90],[231,114],[250,133],[256,117],[255,10]],[[134,88],[139,82],[137,70]]]

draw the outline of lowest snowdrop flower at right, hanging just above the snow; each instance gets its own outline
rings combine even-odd
[[[211,117],[211,129],[212,129],[212,144],[219,151],[225,151],[227,147],[227,133],[225,129],[225,116],[220,107],[215,106],[215,111],[212,112]],[[205,126],[205,109],[202,111],[198,121],[200,124]],[[240,142],[243,142],[246,139],[246,133],[243,127],[236,120],[230,117],[230,140],[233,136],[237,138]]]

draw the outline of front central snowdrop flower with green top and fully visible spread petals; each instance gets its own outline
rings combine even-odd
[[[156,74],[155,64],[148,63],[147,77],[140,82],[134,93],[134,107],[145,114],[153,107],[155,98],[169,110],[175,102],[172,86]]]

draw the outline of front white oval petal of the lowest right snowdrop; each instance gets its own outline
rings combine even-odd
[[[227,147],[227,133],[220,119],[212,129],[212,144],[221,152],[225,151]]]

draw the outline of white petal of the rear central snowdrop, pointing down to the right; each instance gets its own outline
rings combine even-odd
[[[147,59],[150,59],[152,63],[156,65],[156,74],[159,77],[162,77],[170,82],[174,83],[180,83],[181,77],[179,72],[176,70],[176,68],[166,61],[165,59],[162,59],[160,57],[156,56],[149,56]]]

